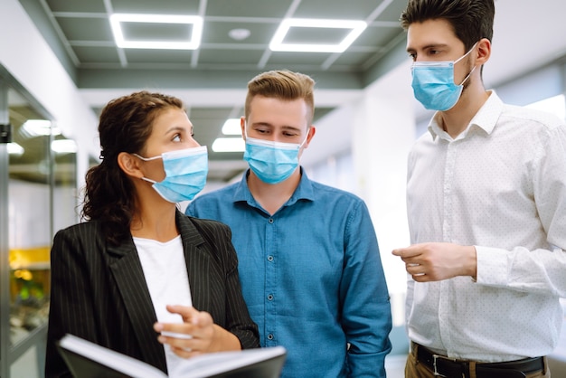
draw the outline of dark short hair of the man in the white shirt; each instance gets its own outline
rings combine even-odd
[[[482,38],[492,40],[494,16],[494,0],[409,0],[400,21],[407,30],[413,23],[446,20],[469,50]]]

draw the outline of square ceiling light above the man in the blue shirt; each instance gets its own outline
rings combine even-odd
[[[285,36],[292,27],[352,29],[340,43],[283,43]],[[367,24],[358,20],[318,20],[312,18],[286,18],[279,24],[277,32],[269,43],[269,49],[274,52],[344,52],[350,44],[365,30]]]

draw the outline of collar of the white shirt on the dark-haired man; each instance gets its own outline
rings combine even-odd
[[[462,132],[459,138],[463,138],[467,136],[470,128],[481,128],[486,132],[486,134],[491,134],[495,128],[495,124],[497,123],[497,119],[501,115],[503,111],[504,103],[499,96],[495,93],[495,90],[488,90],[489,97],[486,100],[486,103],[482,105],[482,107],[477,111],[476,115],[470,121],[469,125],[467,125],[466,130]],[[451,139],[446,131],[440,127],[440,112],[437,111],[434,113],[432,119],[430,119],[429,123],[429,133],[432,136],[432,140],[435,140],[436,137],[442,137],[443,139]]]

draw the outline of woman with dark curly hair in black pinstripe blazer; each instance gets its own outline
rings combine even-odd
[[[113,99],[99,137],[87,222],[53,240],[46,376],[71,374],[55,347],[65,334],[165,373],[197,354],[258,347],[230,228],[176,206],[203,189],[208,171],[182,101],[147,91]]]

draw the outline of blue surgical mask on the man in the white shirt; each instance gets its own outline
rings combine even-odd
[[[411,86],[415,98],[426,109],[446,111],[456,105],[464,89],[464,83],[476,69],[476,66],[467,74],[460,85],[456,85],[454,83],[454,65],[472,52],[476,44],[456,61],[415,61],[412,63]]]

